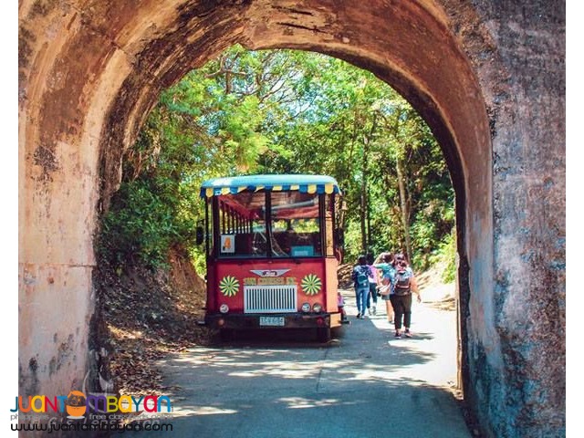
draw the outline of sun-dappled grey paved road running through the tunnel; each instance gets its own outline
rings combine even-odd
[[[415,337],[393,339],[384,308],[357,320],[344,295],[351,324],[328,345],[272,332],[165,360],[173,436],[470,437],[448,391],[454,312],[415,305]]]

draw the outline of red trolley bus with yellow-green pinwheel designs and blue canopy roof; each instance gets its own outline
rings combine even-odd
[[[330,339],[337,300],[340,191],[322,175],[252,175],[203,183],[205,324],[312,328]]]

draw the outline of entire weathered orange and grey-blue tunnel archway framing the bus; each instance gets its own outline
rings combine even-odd
[[[466,397],[487,433],[561,433],[565,344],[547,334],[565,328],[565,290],[542,279],[565,275],[564,218],[554,214],[565,211],[562,11],[537,1],[356,3],[20,3],[21,393],[80,385],[92,235],[121,153],[161,89],[239,42],[346,59],[420,111],[457,194]],[[556,162],[542,157],[549,151]]]

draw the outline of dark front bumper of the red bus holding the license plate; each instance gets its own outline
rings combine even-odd
[[[335,328],[341,324],[336,313],[284,313],[284,314],[209,314],[204,318],[209,328]]]

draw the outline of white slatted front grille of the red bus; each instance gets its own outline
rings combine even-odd
[[[245,286],[245,313],[296,312],[296,286]]]

